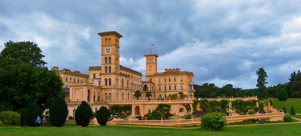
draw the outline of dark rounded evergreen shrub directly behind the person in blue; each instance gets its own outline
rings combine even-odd
[[[31,102],[26,107],[26,125],[28,126],[36,126],[36,119],[37,116],[41,117],[42,110],[40,109],[39,105],[36,102]],[[42,121],[42,119],[41,119]]]

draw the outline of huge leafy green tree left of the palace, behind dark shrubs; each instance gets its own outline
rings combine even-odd
[[[5,110],[17,111],[30,102],[45,110],[53,97],[65,97],[61,77],[44,66],[41,52],[33,42],[5,43],[0,53],[0,101]]]

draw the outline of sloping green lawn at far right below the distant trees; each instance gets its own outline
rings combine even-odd
[[[296,113],[301,114],[301,99],[287,99],[286,101],[280,101],[278,99],[273,99],[273,107],[278,107],[278,109],[285,109],[287,113],[290,113],[290,108],[293,106]]]

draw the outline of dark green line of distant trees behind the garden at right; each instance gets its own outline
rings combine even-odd
[[[251,97],[258,96],[262,98],[277,97],[277,92],[281,89],[287,91],[289,98],[301,98],[301,73],[300,70],[297,73],[294,71],[290,74],[289,82],[284,84],[268,86],[264,89],[265,95],[260,95],[258,88],[254,89],[242,89],[233,88],[233,85],[227,84],[219,88],[214,83],[204,83],[203,85],[194,85],[194,97],[209,98],[209,97]]]

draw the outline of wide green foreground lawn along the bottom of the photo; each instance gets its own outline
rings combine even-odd
[[[210,136],[233,136],[233,135],[265,135],[265,136],[284,136],[300,135],[301,124],[279,124],[279,125],[256,125],[225,127],[222,131],[204,131],[197,129],[172,129],[172,128],[143,128],[128,126],[90,126],[90,127],[0,127],[0,135],[47,135],[47,136],[178,136],[178,135],[210,135]]]

